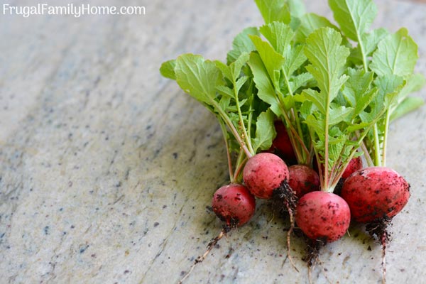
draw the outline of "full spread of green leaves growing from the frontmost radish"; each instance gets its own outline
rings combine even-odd
[[[305,123],[315,141],[317,160],[324,165],[319,167],[320,178],[322,190],[327,191],[334,190],[364,137],[393,105],[402,84],[396,77],[374,80],[373,72],[346,67],[349,48],[341,43],[340,33],[320,28],[307,37],[304,50],[310,61],[306,69],[320,90],[302,92],[313,106],[312,114],[305,114]]]

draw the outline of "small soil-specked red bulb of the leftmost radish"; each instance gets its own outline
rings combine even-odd
[[[242,226],[253,217],[256,200],[247,187],[234,183],[214,192],[212,208],[226,225]]]

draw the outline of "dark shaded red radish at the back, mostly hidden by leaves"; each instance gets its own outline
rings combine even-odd
[[[288,136],[283,121],[275,121],[274,126],[277,136],[275,136],[275,139],[272,141],[272,146],[269,151],[279,155],[283,160],[296,160],[295,151],[293,150],[290,137]]]

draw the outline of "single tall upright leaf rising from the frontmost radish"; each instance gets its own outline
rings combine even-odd
[[[307,115],[305,123],[315,141],[317,160],[324,164],[324,169],[320,168],[320,171],[324,171],[320,173],[322,189],[330,191],[334,189],[330,177],[339,175],[335,173],[339,159],[346,158],[342,162],[346,163],[351,158],[349,151],[354,148],[349,133],[339,127],[353,109],[333,104],[342,85],[348,80],[343,72],[349,49],[340,45],[341,43],[342,36],[337,31],[320,28],[307,37],[304,49],[310,61],[306,69],[315,78],[320,89],[320,92],[315,89],[305,89],[302,92],[302,97],[315,106],[313,114]]]

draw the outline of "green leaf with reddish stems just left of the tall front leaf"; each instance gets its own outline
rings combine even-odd
[[[268,42],[250,36],[256,53],[249,60],[258,97],[285,121],[298,163],[311,165],[311,139],[295,112],[297,92],[312,80],[312,75],[300,72],[307,60],[303,46],[297,45],[293,29],[285,23],[269,23],[259,31]]]

